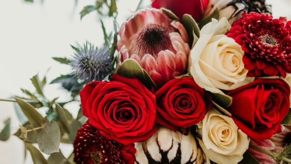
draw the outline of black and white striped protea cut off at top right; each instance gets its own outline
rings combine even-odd
[[[204,15],[211,14],[217,7],[220,10],[220,18],[226,17],[230,24],[241,18],[242,13],[257,12],[272,15],[272,7],[266,5],[265,0],[210,0]]]

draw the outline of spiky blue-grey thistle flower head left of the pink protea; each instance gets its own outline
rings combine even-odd
[[[71,61],[73,74],[82,82],[101,81],[112,71],[112,59],[108,48],[98,49],[86,42],[84,47],[73,47],[76,51]]]

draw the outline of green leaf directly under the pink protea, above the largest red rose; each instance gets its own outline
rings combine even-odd
[[[153,80],[149,75],[147,75],[147,72],[144,71],[140,65],[135,61],[134,59],[126,59],[123,61],[123,63],[119,66],[119,69],[117,70],[117,74],[123,77],[136,77],[138,78],[141,83],[143,83],[147,88],[151,88],[152,86],[155,86],[153,84]]]

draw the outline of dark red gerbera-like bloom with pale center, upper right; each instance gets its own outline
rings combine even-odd
[[[291,35],[279,19],[251,12],[226,33],[241,45],[248,76],[286,76],[291,73]]]

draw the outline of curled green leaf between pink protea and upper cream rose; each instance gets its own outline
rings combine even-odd
[[[200,37],[200,30],[193,19],[193,17],[189,14],[184,14],[181,23],[185,27],[188,37],[189,37],[189,45],[193,45],[193,41],[195,38],[195,35],[199,38]],[[196,41],[197,42],[197,41]]]

